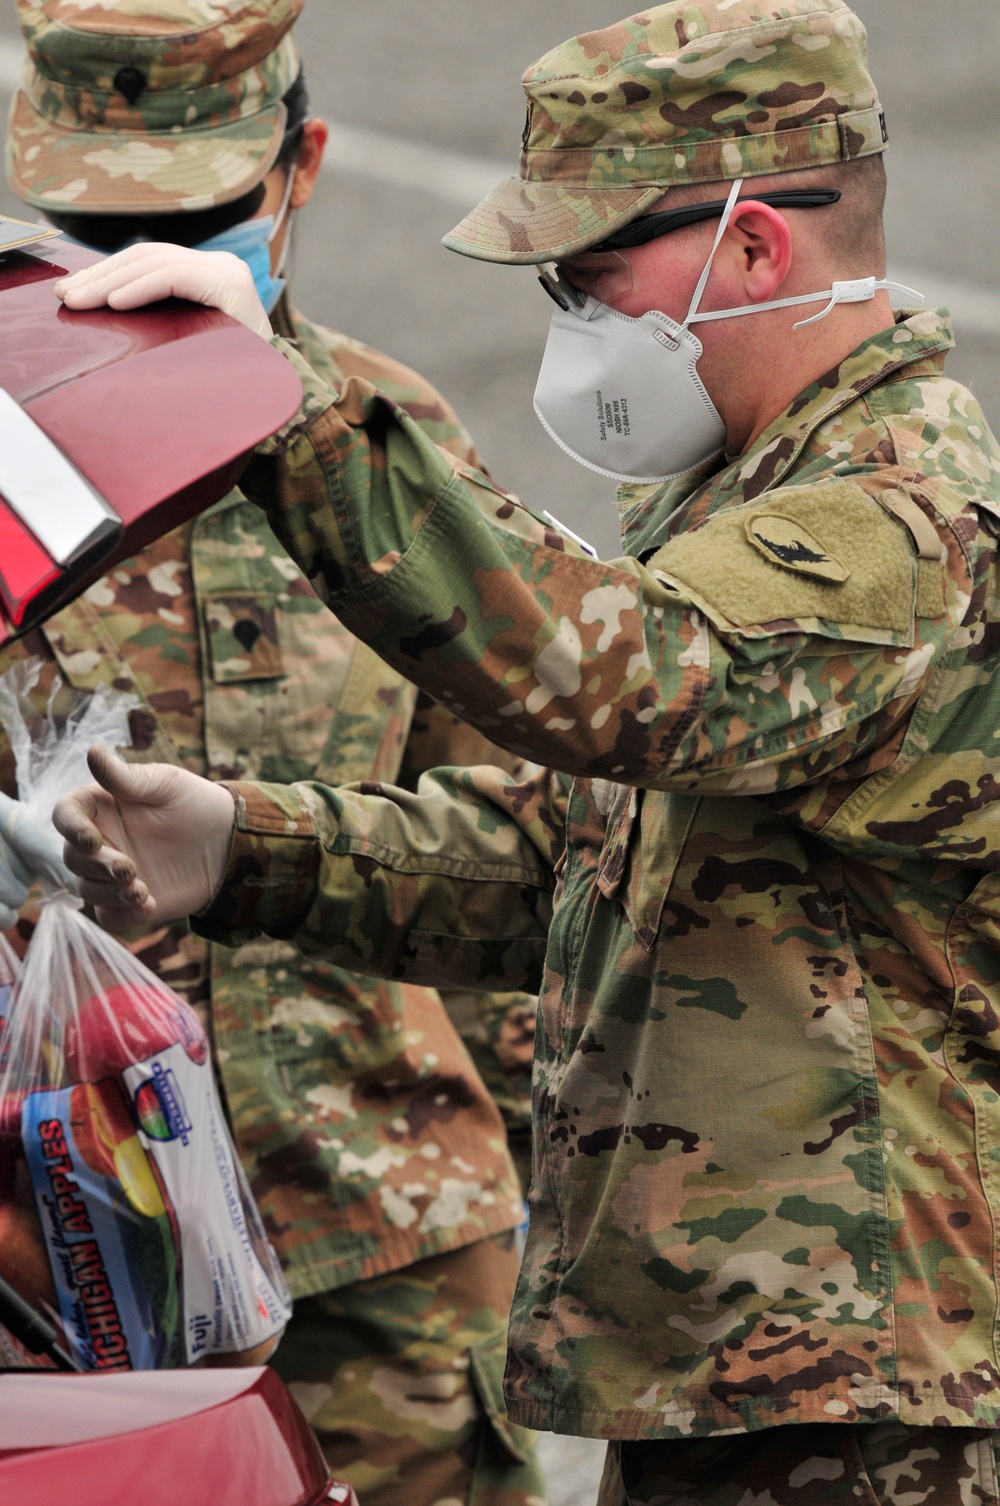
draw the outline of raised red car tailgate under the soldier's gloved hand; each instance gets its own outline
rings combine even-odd
[[[301,398],[277,351],[214,309],[65,309],[56,279],[99,259],[63,238],[0,258],[0,389],[120,520],[60,565],[3,497],[0,456],[0,640],[223,497]]]

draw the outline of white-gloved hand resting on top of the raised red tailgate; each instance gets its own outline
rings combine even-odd
[[[193,252],[188,245],[149,241],[60,277],[56,297],[68,309],[142,309],[161,298],[188,298],[245,324],[262,339],[271,325],[245,262],[232,252]]]

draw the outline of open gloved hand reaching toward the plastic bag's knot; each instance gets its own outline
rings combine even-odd
[[[96,785],[53,812],[66,866],[107,931],[157,916],[193,916],[218,889],[235,822],[233,798],[173,764],[125,764],[99,744],[87,753]]]

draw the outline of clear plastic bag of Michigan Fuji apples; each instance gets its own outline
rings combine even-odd
[[[0,1053],[0,1229],[6,1212],[20,1239],[0,1274],[86,1369],[264,1363],[291,1306],[194,1011],[60,892]]]

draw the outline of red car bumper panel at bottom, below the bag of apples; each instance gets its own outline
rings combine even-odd
[[[268,1369],[0,1372],[3,1506],[357,1506]]]

